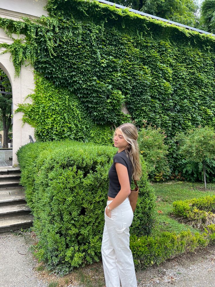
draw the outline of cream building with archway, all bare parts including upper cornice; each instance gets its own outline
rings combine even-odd
[[[47,11],[43,7],[46,5],[46,0],[7,0],[0,2],[0,17],[21,20],[22,17],[37,18],[42,15],[47,16]],[[24,35],[21,35],[24,36]],[[17,36],[14,35],[14,38]],[[0,43],[13,43],[3,29],[0,28]],[[0,53],[4,48],[0,49]],[[30,142],[29,135],[34,139],[34,128],[22,122],[22,113],[14,113],[18,104],[26,102],[26,96],[32,93],[34,89],[33,67],[23,65],[19,77],[15,77],[15,69],[11,60],[11,54],[0,54],[0,69],[8,76],[13,94],[12,105],[12,130],[13,130],[13,166],[18,164],[16,152],[20,146]],[[30,101],[30,99],[27,99]]]

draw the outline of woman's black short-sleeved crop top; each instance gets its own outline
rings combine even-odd
[[[117,176],[117,171],[115,167],[115,163],[118,162],[119,164],[123,164],[128,169],[129,174],[129,182],[131,186],[131,177],[132,177],[132,163],[129,159],[129,156],[127,156],[127,153],[125,150],[122,152],[119,152],[115,154],[113,157],[113,164],[109,169],[108,177],[109,177],[109,188],[108,188],[108,196],[115,198],[118,194],[119,190],[121,189],[119,179]]]

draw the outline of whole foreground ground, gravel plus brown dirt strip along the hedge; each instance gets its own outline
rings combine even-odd
[[[74,270],[58,277],[51,274],[33,257],[30,249],[35,244],[32,232],[0,234],[0,286],[13,287],[104,287],[102,263]],[[7,269],[5,269],[7,262]],[[7,270],[7,271],[6,271]],[[183,254],[136,273],[138,287],[214,287],[215,246],[195,253]],[[13,274],[13,276],[11,276]],[[3,280],[3,281],[2,281]]]

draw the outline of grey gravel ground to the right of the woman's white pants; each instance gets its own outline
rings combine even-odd
[[[215,246],[138,272],[138,287],[214,287]]]

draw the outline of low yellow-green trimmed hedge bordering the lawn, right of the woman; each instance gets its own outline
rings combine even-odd
[[[214,244],[215,240],[215,196],[199,199],[176,201],[173,203],[174,214],[192,221],[200,231],[192,234],[190,230],[179,234],[162,232],[159,236],[131,236],[130,246],[136,269],[143,269],[154,264],[160,264],[168,258],[183,252],[192,252]],[[213,224],[211,224],[213,223]]]

